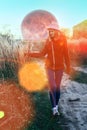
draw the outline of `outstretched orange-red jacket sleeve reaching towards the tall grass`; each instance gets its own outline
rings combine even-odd
[[[41,52],[28,52],[28,56],[30,57],[35,57],[35,58],[39,58],[39,57],[43,57],[47,54],[47,44],[45,44],[44,48],[41,50]]]

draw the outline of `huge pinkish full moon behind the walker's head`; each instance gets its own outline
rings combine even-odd
[[[58,26],[56,17],[45,10],[34,10],[28,13],[21,24],[21,30],[24,40],[42,41],[47,39],[47,27],[51,24]]]

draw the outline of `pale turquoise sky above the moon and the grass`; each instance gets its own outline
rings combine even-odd
[[[61,27],[87,19],[87,0],[0,0],[0,28],[11,26],[20,32],[23,18],[38,9],[54,14]]]

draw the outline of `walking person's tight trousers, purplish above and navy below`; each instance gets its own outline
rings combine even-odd
[[[60,83],[63,76],[63,70],[47,69],[49,81],[49,95],[52,107],[58,105],[60,99]]]

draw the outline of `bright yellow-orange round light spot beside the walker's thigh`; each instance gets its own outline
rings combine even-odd
[[[28,91],[40,91],[45,87],[47,82],[42,67],[35,62],[24,64],[19,70],[18,77],[21,86]]]

